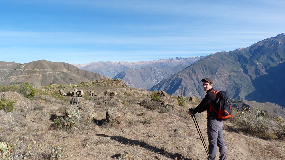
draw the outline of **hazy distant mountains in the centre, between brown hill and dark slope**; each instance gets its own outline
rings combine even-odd
[[[154,61],[112,62],[99,61],[89,64],[72,64],[80,69],[100,73],[110,79],[122,79],[129,87],[149,89],[163,79],[182,71],[195,61],[204,58],[170,58]]]

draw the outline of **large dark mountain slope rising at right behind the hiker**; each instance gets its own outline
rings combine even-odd
[[[285,106],[281,97],[284,79],[285,34],[252,46],[217,52],[154,85],[172,95],[204,97],[201,79],[211,78],[216,90],[228,91],[233,99],[271,102]]]

